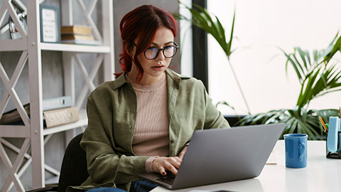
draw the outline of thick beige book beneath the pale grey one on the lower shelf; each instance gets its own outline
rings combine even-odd
[[[45,117],[46,128],[77,122],[80,119],[77,107],[49,110],[43,112],[43,114]]]

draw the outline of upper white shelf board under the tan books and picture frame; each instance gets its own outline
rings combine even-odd
[[[74,45],[66,43],[40,43],[41,50],[57,50],[70,52],[85,52],[85,53],[110,53],[109,46],[87,46]]]

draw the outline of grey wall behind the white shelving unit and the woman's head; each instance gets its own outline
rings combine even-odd
[[[2,1],[0,0],[0,6],[2,5]],[[74,1],[75,2],[75,1]],[[85,1],[85,3],[89,3],[90,1]],[[48,0],[45,1],[44,4],[52,4],[59,6],[60,1],[53,1]],[[26,1],[24,1],[24,4],[26,4]],[[163,7],[164,9],[170,11],[170,12],[178,12],[178,1],[139,1],[139,0],[126,0],[126,1],[120,1],[120,0],[114,0],[114,56],[115,56],[115,65],[116,65],[116,71],[119,72],[120,68],[118,63],[119,60],[119,53],[121,50],[120,46],[120,37],[119,37],[119,21],[121,20],[121,17],[126,14],[128,11],[134,9],[135,7],[142,5],[142,4],[155,4],[158,6]],[[77,4],[74,3],[74,23],[82,23],[82,14],[80,13],[80,10],[77,9]],[[97,6],[97,9],[100,9],[100,6]],[[94,14],[92,17],[94,18],[94,21],[100,25],[100,18],[97,16],[99,11],[94,11]],[[5,21],[7,21],[8,18],[5,18]],[[1,24],[3,26],[4,23]],[[0,26],[0,27],[1,27]],[[4,33],[0,36],[0,38],[9,38],[9,33]],[[177,39],[176,41],[179,41]],[[9,75],[9,78],[11,78],[11,75],[13,73],[14,68],[16,67],[16,63],[18,61],[18,57],[20,56],[20,52],[3,52],[0,53],[0,62],[2,65],[4,65],[4,68],[6,72]],[[86,68],[89,70],[91,68],[91,63],[94,61],[94,56],[91,54],[83,54],[82,55],[83,60],[87,60],[87,63],[85,63]],[[43,98],[48,97],[58,97],[62,96],[64,94],[63,92],[63,54],[58,51],[43,51],[42,52],[42,73],[43,73]],[[26,63],[27,65],[27,63]],[[175,71],[180,72],[180,54],[178,54],[172,61],[171,65],[175,68]],[[80,70],[75,68],[76,70],[76,92],[79,92],[84,86],[84,81],[82,80],[82,75],[80,73]],[[101,69],[99,69],[101,70]],[[102,82],[102,74],[97,75],[95,79],[95,85],[98,85],[99,82]],[[29,95],[28,95],[28,67],[26,66],[23,69],[23,73],[21,75],[21,78],[19,78],[18,83],[15,87],[16,91],[18,92],[18,96],[21,98],[21,102],[23,104],[29,102]],[[4,84],[0,81],[0,99],[2,98],[2,95],[4,95],[5,88]],[[85,105],[83,105],[85,107]],[[9,103],[8,107],[6,107],[6,111],[11,110],[14,108],[13,103]],[[79,131],[78,131],[79,132]],[[16,139],[16,138],[7,138],[9,142],[12,142],[16,146],[21,146],[23,140],[22,139]],[[5,147],[6,148],[6,147]],[[16,158],[16,153],[6,148],[6,151],[9,153],[9,158],[13,162]],[[53,135],[53,137],[50,139],[50,142],[45,145],[45,163],[49,166],[52,166],[55,169],[60,170],[61,161],[63,159],[63,154],[65,151],[65,137],[64,133],[58,133]],[[30,149],[28,150],[28,153],[30,152]],[[8,174],[6,171],[6,168],[3,164],[3,162],[0,160],[0,188],[4,185],[6,178]],[[53,175],[46,172],[45,175],[46,179],[50,179],[50,182],[56,182],[58,179],[54,178]],[[31,166],[28,168],[28,170],[21,176],[21,181],[23,183],[23,186],[26,189],[31,188]],[[16,191],[15,188],[12,188],[11,191]]]

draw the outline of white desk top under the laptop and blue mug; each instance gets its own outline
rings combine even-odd
[[[325,158],[325,142],[308,141],[308,166],[303,169],[286,168],[283,140],[274,152],[277,164],[266,164],[256,178],[175,191],[341,191],[341,159]],[[170,190],[161,186],[152,190],[158,191]]]

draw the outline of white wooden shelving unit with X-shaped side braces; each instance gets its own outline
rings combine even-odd
[[[21,99],[26,99],[27,97],[29,98],[30,104],[34,107],[31,107],[30,117],[26,120],[27,125],[0,124],[1,140],[4,137],[23,138],[24,140],[21,149],[16,151],[18,156],[16,157],[14,164],[13,161],[11,161],[14,156],[11,155],[11,159],[9,159],[7,158],[9,156],[8,150],[0,149],[0,156],[6,157],[2,158],[2,160],[4,160],[4,165],[6,166],[6,170],[9,174],[4,185],[0,184],[0,191],[26,191],[23,183],[21,183],[20,175],[23,174],[28,167],[30,167],[32,171],[31,188],[40,188],[45,186],[45,170],[53,170],[50,166],[45,165],[45,139],[46,142],[48,141],[48,138],[46,137],[48,135],[67,131],[65,132],[65,144],[67,144],[70,142],[70,139],[75,136],[75,132],[72,132],[72,129],[87,126],[87,114],[85,110],[79,110],[80,120],[77,122],[57,127],[43,127],[43,115],[41,114],[43,111],[41,109],[43,107],[43,104],[41,103],[43,100],[43,92],[53,89],[53,87],[44,87],[45,90],[43,91],[42,66],[45,65],[48,60],[42,60],[42,50],[60,51],[63,53],[61,55],[55,55],[58,57],[56,58],[57,60],[54,60],[54,58],[49,59],[53,60],[53,64],[63,65],[62,93],[63,95],[70,95],[72,98],[72,106],[78,107],[78,109],[81,109],[83,102],[86,101],[87,92],[91,92],[96,87],[94,83],[96,75],[99,75],[99,79],[103,76],[102,80],[108,81],[113,79],[114,73],[114,6],[111,0],[102,0],[100,3],[99,1],[85,3],[83,2],[85,0],[80,0],[79,3],[82,5],[80,6],[80,12],[82,13],[78,11],[75,13],[75,10],[72,9],[72,0],[60,1],[60,25],[72,25],[73,16],[77,16],[77,18],[85,16],[86,22],[82,24],[92,28],[94,38],[101,42],[101,45],[40,42],[40,16],[42,16],[42,14],[40,13],[39,6],[43,1],[30,0],[29,4],[22,4],[23,2],[21,1],[23,0],[16,0],[16,4],[20,4],[19,8],[26,11],[26,16],[28,18],[26,22],[28,28],[26,30],[21,25],[21,27],[17,28],[22,37],[20,39],[0,39],[0,54],[5,51],[22,51],[22,53],[20,58],[9,58],[9,60],[4,60],[5,63],[9,62],[11,68],[9,68],[9,71],[5,71],[3,68],[0,69],[0,84],[3,83],[5,85],[0,87],[1,92],[2,87],[5,87],[6,90],[4,91],[8,93],[6,93],[5,97],[2,98],[3,101],[9,100],[10,97],[13,104],[18,106],[22,105]],[[9,17],[14,21],[14,23],[19,23],[20,20],[18,19],[18,16],[15,16],[15,5],[11,4],[11,1],[9,0],[1,2],[3,4],[0,8],[0,21],[4,20],[3,18]],[[102,7],[102,9],[97,9],[97,6]],[[96,12],[93,13],[94,10],[96,10]],[[78,14],[83,15],[78,16]],[[98,15],[96,18],[100,19],[96,19],[96,22],[94,22],[94,19],[92,18],[93,14]],[[89,57],[82,57],[82,54],[84,53],[91,54],[89,54]],[[60,62],[59,58],[63,61]],[[88,58],[91,59],[89,60]],[[17,63],[15,63],[16,60]],[[1,62],[3,61],[1,60]],[[14,64],[16,64],[16,67]],[[75,69],[75,65],[77,65],[78,68]],[[87,65],[90,65],[91,68],[87,68]],[[49,66],[54,67],[54,65]],[[24,67],[28,68],[28,74],[24,72],[26,71],[23,70]],[[102,70],[102,72],[100,70]],[[7,73],[9,73],[9,75],[7,75]],[[58,73],[53,74],[57,75]],[[82,75],[82,80],[80,80],[79,74]],[[25,95],[24,98],[19,98],[15,89],[16,82],[19,78],[27,78],[29,83],[29,92],[27,92],[27,95]],[[101,83],[102,80],[99,80],[98,83]],[[80,95],[76,94],[76,81],[80,83],[85,82],[83,83],[85,85],[83,86],[84,88],[80,92]],[[75,101],[77,101],[77,103],[73,103]],[[6,108],[7,102],[1,102],[0,105],[1,109],[2,107]],[[22,115],[23,114],[21,114],[21,117],[23,117]],[[31,161],[24,160],[26,159],[25,154],[28,153],[28,149],[30,149]],[[26,161],[25,166],[21,167],[18,165],[18,162],[21,161]],[[29,164],[31,164],[31,166],[28,166]],[[20,169],[18,169],[19,167]],[[50,174],[58,176],[58,171],[50,171]],[[12,187],[15,187],[15,189],[12,189]]]

